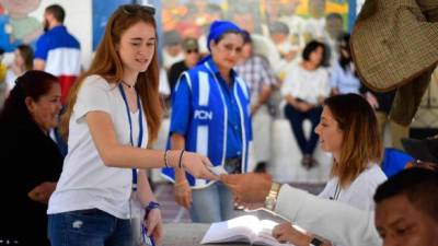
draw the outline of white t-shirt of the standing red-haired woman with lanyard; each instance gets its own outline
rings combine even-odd
[[[139,108],[141,109],[141,108]],[[130,145],[127,110],[118,87],[99,75],[85,79],[78,94],[69,125],[69,151],[55,192],[48,203],[48,214],[74,210],[100,209],[116,218],[129,218],[132,171],[107,167],[91,138],[85,115],[105,112],[111,116],[117,141]],[[137,145],[138,110],[131,114],[134,143]],[[142,114],[141,148],[148,143],[148,126]]]

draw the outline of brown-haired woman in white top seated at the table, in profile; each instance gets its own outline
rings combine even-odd
[[[319,197],[373,211],[372,196],[387,176],[379,166],[383,149],[371,106],[357,94],[328,97],[315,132],[321,148],[333,154],[332,178]],[[314,242],[290,223],[277,225],[273,235],[297,246]]]

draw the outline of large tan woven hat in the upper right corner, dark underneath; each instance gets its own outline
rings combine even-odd
[[[438,62],[438,1],[367,0],[350,45],[368,87],[400,89],[391,118],[408,126]]]

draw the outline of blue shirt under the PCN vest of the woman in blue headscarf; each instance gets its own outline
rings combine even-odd
[[[227,150],[226,157],[240,157],[242,155],[242,127],[239,114],[239,106],[234,98],[233,86],[229,86],[220,75],[212,59],[207,60],[212,72],[216,74],[227,103],[228,124],[227,124]],[[231,70],[231,84],[235,83],[237,73]],[[210,80],[215,80],[209,74]],[[220,98],[218,98],[220,99]],[[172,96],[172,120],[170,131],[185,136],[188,129],[193,109],[191,108],[192,95],[185,77],[182,77],[177,89]]]

